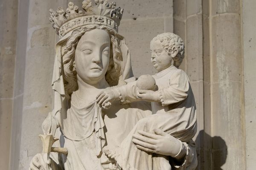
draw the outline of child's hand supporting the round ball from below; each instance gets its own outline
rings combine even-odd
[[[157,91],[137,90],[137,97],[147,102],[160,102],[160,96]]]

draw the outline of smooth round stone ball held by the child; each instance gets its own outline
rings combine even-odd
[[[151,75],[142,75],[137,80],[137,87],[140,90],[154,90],[156,88],[156,81]]]

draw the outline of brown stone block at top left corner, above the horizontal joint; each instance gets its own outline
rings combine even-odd
[[[17,4],[14,0],[0,3],[0,98],[13,97],[16,54]],[[9,8],[13,11],[10,12]]]

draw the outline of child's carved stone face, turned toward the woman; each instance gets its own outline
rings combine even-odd
[[[172,65],[172,57],[163,49],[160,40],[151,41],[151,62],[157,72],[162,71]]]

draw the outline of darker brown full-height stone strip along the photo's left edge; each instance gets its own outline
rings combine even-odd
[[[0,1],[0,169],[9,169],[18,0]]]

